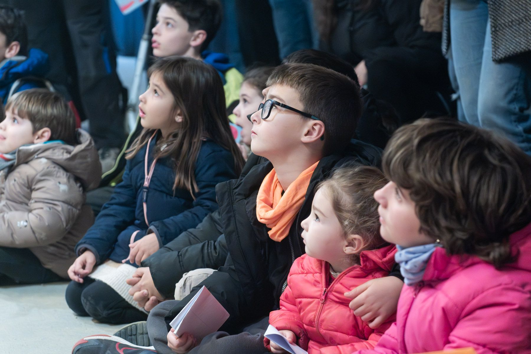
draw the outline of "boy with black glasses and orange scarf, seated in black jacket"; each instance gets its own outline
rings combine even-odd
[[[187,352],[196,344],[200,346],[193,352],[262,353],[269,312],[278,308],[289,269],[304,253],[300,222],[310,213],[315,186],[345,163],[380,163],[379,149],[350,141],[361,102],[358,85],[348,77],[316,65],[285,64],[273,71],[263,93],[261,109],[251,115],[251,149],[268,161],[217,186],[229,255],[189,296],[164,301],[151,311],[147,329],[159,353]],[[378,281],[384,289],[381,298],[392,303],[390,311],[379,313],[387,318],[396,308],[396,297],[389,293],[399,292],[402,282],[395,277]],[[222,329],[239,334],[216,332],[199,343],[168,332],[167,323],[203,285],[230,314]],[[243,332],[251,323],[258,330]],[[74,353],[106,352],[119,342],[123,340],[114,336],[89,336]]]

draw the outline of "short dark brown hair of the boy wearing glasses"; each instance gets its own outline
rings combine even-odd
[[[303,110],[322,120],[324,156],[340,153],[346,148],[362,113],[356,82],[318,65],[282,64],[267,82],[268,87],[276,84],[295,89]]]

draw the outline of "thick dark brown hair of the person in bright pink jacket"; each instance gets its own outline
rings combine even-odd
[[[409,190],[420,231],[449,254],[512,261],[509,235],[531,221],[531,158],[504,137],[450,119],[419,119],[392,135],[383,171]]]

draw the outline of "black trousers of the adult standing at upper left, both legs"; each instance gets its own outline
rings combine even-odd
[[[24,11],[30,48],[49,56],[47,79],[66,88],[100,148],[125,141],[122,84],[104,0],[0,0]]]

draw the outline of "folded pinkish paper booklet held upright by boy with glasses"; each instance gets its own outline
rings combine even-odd
[[[204,286],[170,322],[178,336],[189,333],[200,340],[216,332],[229,318],[229,313]]]

